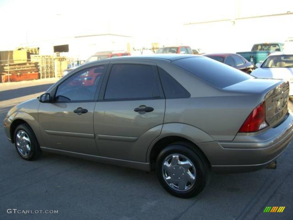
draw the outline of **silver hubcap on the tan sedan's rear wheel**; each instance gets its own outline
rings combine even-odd
[[[163,161],[162,172],[164,180],[177,191],[187,191],[196,180],[195,166],[181,154],[167,156]]]

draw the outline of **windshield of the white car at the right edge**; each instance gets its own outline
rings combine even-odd
[[[293,67],[293,54],[292,55],[272,55],[269,56],[263,65],[262,68],[279,68],[279,67]]]

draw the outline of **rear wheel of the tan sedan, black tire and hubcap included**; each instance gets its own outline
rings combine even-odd
[[[163,188],[180,198],[194,197],[202,192],[211,176],[203,153],[185,142],[172,143],[159,153],[156,173]]]

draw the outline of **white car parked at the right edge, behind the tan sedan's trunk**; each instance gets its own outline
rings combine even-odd
[[[273,53],[251,72],[257,78],[287,79],[290,84],[289,96],[293,96],[293,53]]]

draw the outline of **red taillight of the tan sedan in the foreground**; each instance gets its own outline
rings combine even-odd
[[[265,121],[265,101],[259,104],[244,121],[239,132],[256,132],[268,127]]]

